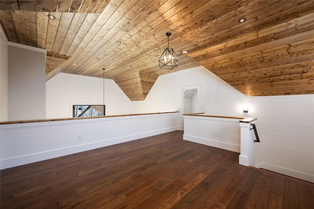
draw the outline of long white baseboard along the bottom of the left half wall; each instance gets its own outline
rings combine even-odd
[[[164,134],[172,131],[177,131],[179,126],[169,127],[165,129],[158,129],[150,132],[143,132],[138,134],[133,134],[129,136],[123,136],[113,139],[104,139],[100,141],[95,141],[92,143],[79,144],[71,147],[63,147],[55,150],[48,150],[40,153],[32,153],[30,155],[18,156],[14,158],[1,159],[0,161],[0,169],[15,167],[19,165],[24,165],[28,163],[35,163],[39,161],[49,160],[52,158],[57,158],[61,156],[71,155],[87,150],[92,150],[100,147],[110,146],[118,143],[123,143],[135,139],[142,139],[145,137],[151,137],[158,134]]]

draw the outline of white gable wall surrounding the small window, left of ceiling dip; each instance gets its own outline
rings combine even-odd
[[[104,103],[104,79],[59,73],[46,82],[47,118],[72,117],[73,105]],[[131,114],[131,100],[110,79],[105,79],[105,115]]]

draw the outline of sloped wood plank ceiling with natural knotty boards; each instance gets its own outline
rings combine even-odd
[[[47,80],[102,78],[105,68],[136,101],[159,75],[202,65],[248,96],[314,93],[313,0],[0,2],[8,40],[47,50]],[[166,32],[180,63],[173,70],[157,62]]]

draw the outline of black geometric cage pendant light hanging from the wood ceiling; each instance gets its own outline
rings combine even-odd
[[[169,69],[172,70],[179,64],[179,59],[173,50],[173,48],[169,47],[169,36],[171,33],[166,33],[166,36],[168,37],[168,47],[165,48],[163,53],[161,54],[161,57],[158,60],[159,68],[160,69]]]

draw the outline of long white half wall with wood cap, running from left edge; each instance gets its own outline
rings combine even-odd
[[[99,117],[0,126],[5,169],[178,130],[179,113]]]

